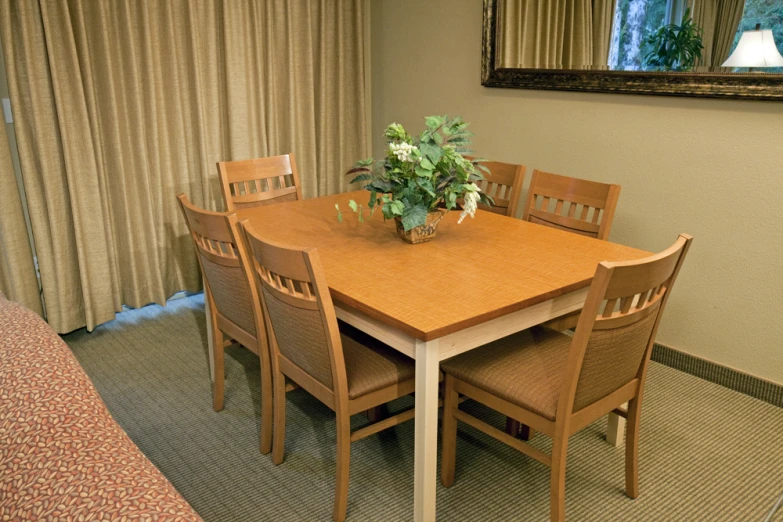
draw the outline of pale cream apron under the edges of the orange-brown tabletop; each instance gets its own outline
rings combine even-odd
[[[588,291],[589,288],[575,290],[537,305],[445,335],[438,339],[438,360],[454,357],[550,319],[579,310],[584,306]],[[335,303],[335,312],[338,319],[388,344],[408,357],[416,358],[415,337],[342,303]]]

